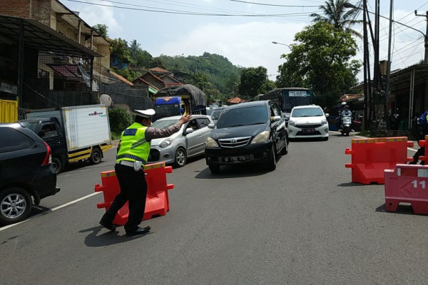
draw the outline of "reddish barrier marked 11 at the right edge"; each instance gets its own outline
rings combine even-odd
[[[412,204],[416,214],[428,214],[428,166],[396,165],[385,170],[385,206],[396,212],[399,203]]]

